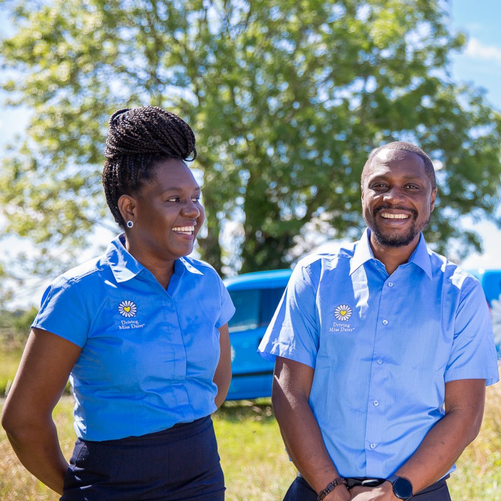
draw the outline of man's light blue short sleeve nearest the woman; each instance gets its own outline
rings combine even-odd
[[[307,267],[298,263],[259,345],[261,356],[277,356],[315,368],[319,347],[317,289]]]

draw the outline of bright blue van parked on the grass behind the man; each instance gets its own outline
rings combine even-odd
[[[468,270],[482,284],[492,315],[497,357],[501,359],[501,270]],[[224,280],[235,305],[229,321],[232,379],[226,400],[272,394],[273,362],[257,353],[292,270],[245,273]]]

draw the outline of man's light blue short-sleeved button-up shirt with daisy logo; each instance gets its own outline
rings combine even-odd
[[[298,263],[259,350],[315,369],[310,406],[339,473],[387,478],[442,419],[446,382],[499,377],[479,282],[422,235],[389,276],[369,236]]]

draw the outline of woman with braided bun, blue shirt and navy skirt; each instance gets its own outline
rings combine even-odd
[[[229,386],[234,308],[216,272],[185,257],[204,220],[190,155],[173,113],[113,114],[103,185],[125,233],[57,278],[32,325],[2,424],[63,501],[224,499],[210,414]],[[69,466],[51,417],[68,376]]]

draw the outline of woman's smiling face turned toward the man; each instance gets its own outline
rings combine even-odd
[[[195,237],[205,219],[200,186],[182,160],[159,161],[154,176],[135,198],[134,240],[142,253],[171,261],[193,250]]]

